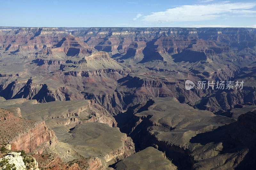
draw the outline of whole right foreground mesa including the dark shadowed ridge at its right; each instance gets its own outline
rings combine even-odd
[[[236,108],[233,112],[244,113],[252,107]],[[255,111],[241,114],[236,121],[194,109],[174,98],[155,98],[118,116],[121,131],[126,131],[139,149],[154,146],[165,151],[181,169],[191,165],[192,169],[240,169],[254,165],[251,160],[255,159]],[[122,120],[131,121],[123,124]],[[127,131],[131,124],[131,131]],[[187,167],[184,160],[189,161]]]

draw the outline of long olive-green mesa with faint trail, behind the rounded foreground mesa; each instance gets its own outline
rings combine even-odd
[[[37,103],[36,100],[17,102],[19,102],[17,99],[5,100],[0,102],[0,107],[12,111],[17,117],[36,122],[45,121],[50,128],[63,124],[75,126],[83,122],[101,122],[108,124],[110,127],[116,127],[116,121],[112,115],[93,100],[46,103]]]

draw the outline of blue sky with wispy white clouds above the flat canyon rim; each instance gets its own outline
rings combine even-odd
[[[256,28],[256,1],[0,0],[0,16],[0,26]]]

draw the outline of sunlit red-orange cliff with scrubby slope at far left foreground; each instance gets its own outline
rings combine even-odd
[[[45,126],[45,122],[21,119],[11,112],[1,109],[1,143],[10,143],[12,151],[31,152],[40,144],[57,141],[55,133]]]

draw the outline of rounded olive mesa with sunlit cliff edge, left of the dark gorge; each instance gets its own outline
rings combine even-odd
[[[72,136],[65,142],[69,145],[79,146],[79,149],[84,151],[91,150],[90,154],[97,157],[99,155],[103,160],[102,163],[107,166],[135,152],[130,137],[121,133],[118,128],[112,128],[103,123],[79,124],[69,133]]]

